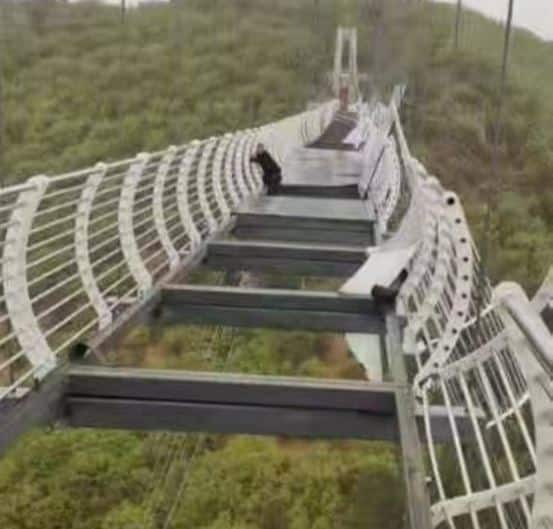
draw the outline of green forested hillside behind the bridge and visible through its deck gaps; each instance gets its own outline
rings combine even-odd
[[[492,197],[494,280],[534,288],[553,262],[552,46],[516,32],[492,179],[501,28],[467,14],[455,50],[451,8],[378,5],[349,2],[368,89],[387,94],[408,83],[403,116],[414,153],[463,196],[479,240]],[[249,127],[324,99],[343,17],[333,0],[179,0],[124,19],[101,5],[0,0],[3,182]],[[121,363],[157,368],[362,376],[333,335],[137,328],[119,353]],[[185,476],[178,529],[399,529],[396,450],[37,432],[0,461],[0,527],[163,527]],[[175,465],[162,474],[171,455]]]

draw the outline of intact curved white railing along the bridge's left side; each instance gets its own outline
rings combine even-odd
[[[0,190],[0,400],[147,296],[259,194],[258,142],[283,159],[336,109]]]

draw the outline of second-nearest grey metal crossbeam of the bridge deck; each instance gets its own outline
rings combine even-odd
[[[373,300],[334,292],[167,285],[161,302],[161,318],[166,322],[384,332],[383,316]]]

